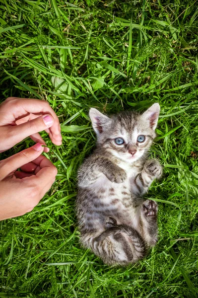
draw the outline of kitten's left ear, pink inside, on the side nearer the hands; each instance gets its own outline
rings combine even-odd
[[[101,134],[110,121],[110,118],[100,113],[97,109],[91,108],[89,110],[89,117],[92,122],[92,126],[97,135]]]

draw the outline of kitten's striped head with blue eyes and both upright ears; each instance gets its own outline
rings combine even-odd
[[[146,152],[155,138],[160,106],[154,103],[143,114],[124,111],[107,117],[91,108],[89,116],[98,146],[127,162],[134,162]]]

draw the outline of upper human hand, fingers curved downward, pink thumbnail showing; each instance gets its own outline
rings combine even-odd
[[[27,137],[46,145],[38,133],[43,130],[55,145],[62,144],[59,119],[47,101],[8,97],[0,104],[0,152]],[[44,151],[48,152],[49,148]]]

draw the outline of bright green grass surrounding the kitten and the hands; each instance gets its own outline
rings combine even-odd
[[[198,297],[198,2],[0,0],[0,98],[47,100],[63,145],[57,181],[29,214],[0,222],[0,298]],[[76,171],[95,135],[90,107],[143,111],[159,102],[151,155],[164,166],[159,242],[128,268],[78,242]],[[5,158],[33,143],[27,139]]]

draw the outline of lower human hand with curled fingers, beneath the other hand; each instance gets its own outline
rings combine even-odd
[[[0,220],[32,211],[51,188],[57,168],[43,149],[37,143],[0,161]]]

